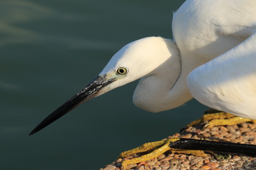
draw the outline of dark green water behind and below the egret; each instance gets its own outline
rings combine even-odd
[[[121,151],[163,139],[206,106],[149,113],[133,105],[138,81],[29,132],[85,87],[127,43],[172,38],[181,0],[0,0],[0,169],[98,170]]]

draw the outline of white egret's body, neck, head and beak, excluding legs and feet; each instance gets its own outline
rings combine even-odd
[[[172,31],[174,41],[148,37],[124,46],[30,135],[139,78],[133,101],[146,111],[169,110],[193,96],[214,109],[256,119],[256,0],[187,0],[174,13]]]

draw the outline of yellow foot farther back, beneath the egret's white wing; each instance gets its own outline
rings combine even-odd
[[[210,111],[211,112],[211,111]],[[230,113],[226,112],[218,112],[218,113],[207,113],[204,116],[202,116],[200,119],[195,120],[188,124],[186,128],[189,128],[191,126],[194,126],[198,123],[202,123],[204,121],[208,120],[209,122],[204,125],[203,129],[206,127],[212,128],[214,126],[223,126],[223,125],[235,125],[235,124],[241,124],[243,122],[253,122],[256,123],[256,120],[246,119],[243,117],[234,116]]]

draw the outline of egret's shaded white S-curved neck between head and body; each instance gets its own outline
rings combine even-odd
[[[160,112],[178,107],[192,99],[186,83],[191,70],[181,65],[179,50],[174,47],[169,50],[170,53],[166,54],[169,59],[161,67],[141,78],[137,85],[133,95],[133,102],[137,107]],[[166,73],[170,74],[166,76]]]

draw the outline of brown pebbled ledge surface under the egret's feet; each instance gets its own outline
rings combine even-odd
[[[204,130],[202,130],[202,126],[203,124],[198,124],[168,138],[179,137],[256,145],[256,124],[247,122],[240,125],[215,126]],[[226,155],[227,158],[216,160],[209,154],[207,154],[207,157],[196,157],[168,153],[167,151],[157,158],[138,164],[131,164],[126,170],[256,170],[256,155],[252,157],[239,153],[221,154]],[[129,158],[138,156],[133,154]],[[100,170],[120,170],[121,161],[122,159],[118,159]]]

